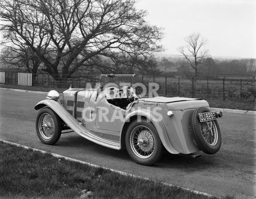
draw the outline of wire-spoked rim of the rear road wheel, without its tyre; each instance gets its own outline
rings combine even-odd
[[[155,150],[154,135],[146,126],[134,128],[131,132],[130,144],[134,154],[142,159],[150,157]]]

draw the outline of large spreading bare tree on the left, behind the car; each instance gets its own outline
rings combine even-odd
[[[161,51],[160,28],[146,23],[134,0],[2,0],[0,28],[27,45],[56,80],[93,57]],[[11,44],[13,45],[13,43]],[[15,45],[15,44],[14,44]]]

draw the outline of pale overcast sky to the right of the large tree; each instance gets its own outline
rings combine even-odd
[[[212,56],[256,58],[255,0],[137,0],[147,21],[164,28],[167,53],[179,54],[184,38],[199,32]]]

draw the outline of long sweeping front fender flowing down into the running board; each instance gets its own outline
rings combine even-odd
[[[41,109],[42,107],[48,106],[50,107],[63,121],[72,128],[77,134],[81,135],[82,137],[100,144],[105,147],[113,148],[115,150],[120,150],[119,142],[112,142],[108,139],[103,139],[100,136],[97,136],[97,133],[91,132],[87,128],[85,128],[79,121],[77,121],[67,110],[64,109],[58,102],[53,101],[51,99],[44,99],[40,101],[36,106],[35,109]]]

